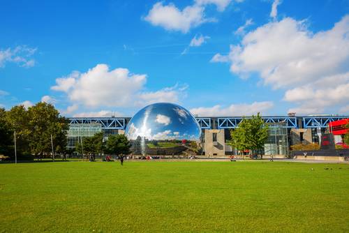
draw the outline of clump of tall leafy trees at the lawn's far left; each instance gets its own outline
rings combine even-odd
[[[15,139],[18,156],[48,156],[52,142],[55,152],[64,153],[68,128],[67,119],[48,103],[40,102],[27,109],[19,105],[8,111],[0,108],[0,154],[13,157]]]

